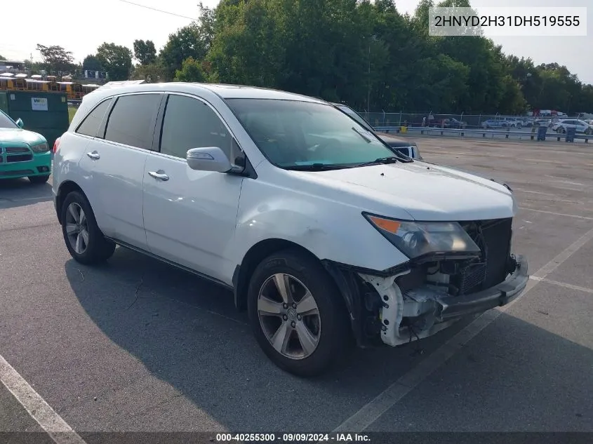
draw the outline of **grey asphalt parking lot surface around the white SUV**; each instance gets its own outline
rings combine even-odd
[[[299,379],[265,358],[227,290],[123,248],[101,267],[74,262],[49,184],[10,180],[0,356],[88,443],[124,431],[593,432],[593,146],[418,145],[514,189],[513,246],[533,279],[512,306]],[[0,432],[41,431],[32,415],[0,384]]]

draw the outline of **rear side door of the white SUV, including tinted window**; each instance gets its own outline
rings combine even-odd
[[[102,130],[81,159],[89,180],[91,204],[106,236],[146,248],[142,179],[162,93],[114,97]]]

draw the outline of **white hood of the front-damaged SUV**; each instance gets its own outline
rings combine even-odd
[[[307,181],[334,189],[333,199],[357,204],[371,213],[413,220],[461,221],[512,217],[515,201],[501,184],[454,168],[429,163],[394,163],[316,173],[294,172]]]

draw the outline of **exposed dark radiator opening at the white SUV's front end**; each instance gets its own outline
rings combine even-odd
[[[462,223],[482,255],[479,262],[467,264],[458,271],[454,279],[458,295],[485,290],[505,281],[511,254],[512,222],[509,217]]]

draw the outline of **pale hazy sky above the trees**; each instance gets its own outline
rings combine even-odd
[[[135,39],[154,41],[156,48],[166,43],[169,34],[198,18],[199,0],[130,0],[132,3],[156,8],[184,17],[153,11],[130,4],[128,0],[102,0],[88,6],[48,7],[47,0],[27,1],[22,20],[3,20],[2,34],[11,39],[0,40],[0,55],[9,59],[39,60],[36,43],[58,45],[72,51],[77,62],[94,53],[101,43],[116,43],[133,48]],[[396,0],[400,13],[413,14],[419,0]],[[216,6],[218,0],[203,0],[204,6]],[[502,51],[531,57],[535,65],[557,62],[566,65],[585,83],[593,83],[593,2],[591,0],[470,0],[479,12],[480,6],[589,6],[587,36],[560,37],[495,37]],[[65,14],[64,11],[76,11]],[[511,10],[509,10],[511,11]],[[25,10],[23,10],[25,14]],[[561,9],[560,9],[560,13]],[[68,20],[75,18],[77,22]],[[23,25],[26,25],[23,27]]]

